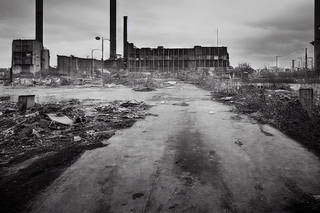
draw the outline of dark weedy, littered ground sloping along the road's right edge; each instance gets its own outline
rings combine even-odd
[[[239,93],[212,92],[212,99],[235,106],[233,111],[279,129],[320,157],[320,107],[314,105],[308,112],[288,88],[266,89],[264,101],[261,91],[246,87]]]

